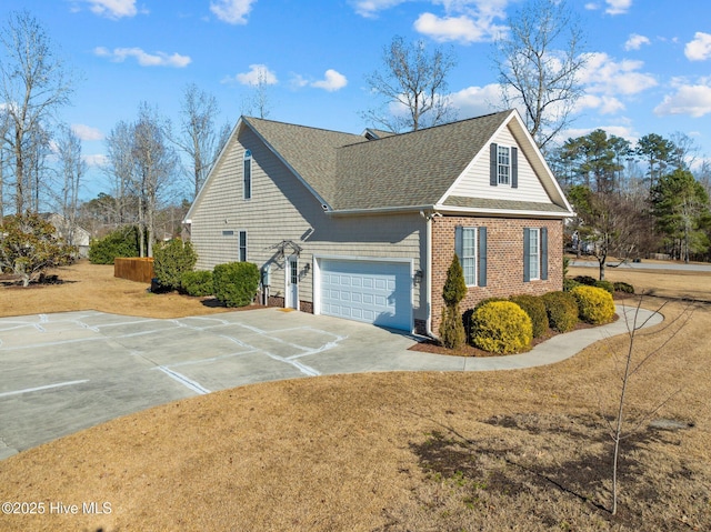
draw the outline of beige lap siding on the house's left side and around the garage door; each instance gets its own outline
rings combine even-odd
[[[252,197],[243,200],[242,158],[252,152]],[[191,215],[197,268],[239,259],[239,231],[247,231],[247,260],[271,267],[270,295],[283,297],[284,258],[274,245],[291,240],[299,258],[299,299],[312,302],[313,255],[411,259],[423,269],[425,221],[419,213],[338,217],[326,214],[317,198],[249,128],[223,153]],[[224,237],[224,231],[232,235]],[[413,317],[427,319],[420,287],[413,287]],[[423,295],[422,295],[423,297]]]

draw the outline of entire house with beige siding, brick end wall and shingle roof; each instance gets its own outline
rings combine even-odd
[[[572,214],[514,110],[360,135],[242,117],[184,224],[199,269],[254,262],[269,304],[437,334],[455,252],[463,309],[561,290]]]

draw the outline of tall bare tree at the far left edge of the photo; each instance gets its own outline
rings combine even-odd
[[[0,101],[6,102],[9,119],[4,142],[13,157],[16,211],[21,214],[28,200],[30,137],[39,139],[41,122],[69,102],[72,88],[63,62],[54,56],[49,37],[29,11],[10,14],[0,42],[6,52],[0,61]]]

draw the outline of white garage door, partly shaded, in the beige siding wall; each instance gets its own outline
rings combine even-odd
[[[410,264],[322,259],[321,313],[412,330]]]

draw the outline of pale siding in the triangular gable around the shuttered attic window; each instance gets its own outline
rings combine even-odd
[[[501,145],[518,147],[509,128],[504,128],[493,142]],[[522,149],[519,149],[519,183],[518,188],[490,184],[489,149],[483,149],[464,173],[459,178],[449,195],[464,198],[484,198],[492,200],[532,201],[551,203],[540,179],[531,167]]]

